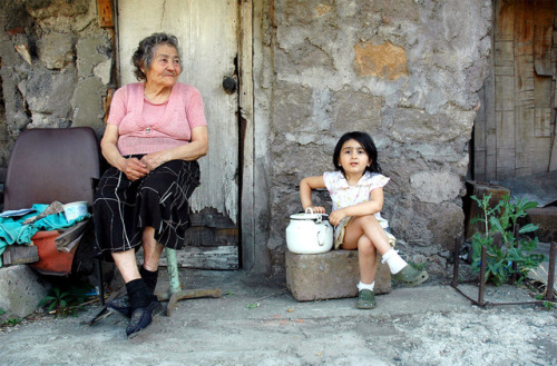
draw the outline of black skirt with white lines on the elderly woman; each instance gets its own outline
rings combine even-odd
[[[143,229],[149,226],[163,246],[184,247],[192,225],[188,199],[197,186],[197,161],[172,160],[134,181],[110,167],[95,194],[96,255],[111,260],[111,253],[139,249]]]

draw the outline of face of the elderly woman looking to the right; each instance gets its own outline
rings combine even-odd
[[[150,68],[141,71],[145,73],[147,82],[153,86],[174,87],[182,72],[178,51],[169,44],[158,46]]]

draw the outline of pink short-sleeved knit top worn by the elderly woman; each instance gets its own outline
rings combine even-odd
[[[162,105],[145,100],[144,83],[128,83],[114,93],[108,123],[118,127],[123,156],[172,149],[192,140],[192,129],[206,126],[203,99],[194,87],[178,82]]]

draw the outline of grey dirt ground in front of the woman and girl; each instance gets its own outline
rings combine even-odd
[[[395,287],[373,310],[355,299],[296,301],[282,280],[243,271],[180,274],[188,288],[218,287],[222,298],[179,301],[134,339],[118,314],[87,326],[42,318],[0,333],[2,365],[554,365],[557,310],[480,308],[442,281]],[[158,288],[163,287],[162,284]],[[477,298],[473,285],[459,286]],[[486,300],[532,300],[515,286],[488,287]]]

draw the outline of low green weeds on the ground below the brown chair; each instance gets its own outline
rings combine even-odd
[[[58,287],[53,286],[39,306],[47,307],[48,311],[55,311],[58,316],[76,316],[77,310],[82,309],[81,304],[87,299],[86,290],[79,286]]]

